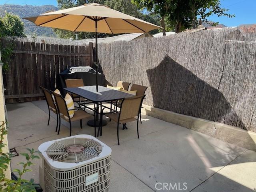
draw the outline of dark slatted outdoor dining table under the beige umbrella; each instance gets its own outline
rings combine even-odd
[[[98,92],[96,91],[96,86],[83,86],[83,87],[73,87],[73,88],[64,88],[67,92],[76,94],[82,98],[92,101],[96,104],[96,126],[99,126],[100,121],[98,118],[99,115],[99,106],[102,108],[102,102],[106,101],[116,101],[123,98],[133,97],[134,95],[128,94],[122,91],[110,89],[104,86],[98,86]],[[101,110],[100,110],[101,111]],[[89,120],[87,122],[89,126],[94,127],[94,120]],[[107,122],[102,120],[102,126],[105,126]]]

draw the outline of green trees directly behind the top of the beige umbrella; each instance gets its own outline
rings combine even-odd
[[[132,4],[130,0],[57,0],[59,9],[66,9],[75,6],[81,6],[83,4],[98,3],[105,4],[108,7],[120,11],[122,13],[134,16],[136,18],[151,22],[153,24],[159,25],[159,16],[157,14],[152,14],[147,12],[144,14],[136,5]],[[68,30],[54,29],[54,32],[60,38],[75,38],[75,33]],[[153,30],[152,34],[157,33],[158,30]],[[94,38],[95,33],[92,32],[77,32],[78,39]],[[99,38],[114,36],[112,34],[98,34]]]

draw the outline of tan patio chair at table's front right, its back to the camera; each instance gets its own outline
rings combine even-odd
[[[136,96],[136,97],[130,97],[130,98],[124,98],[121,102],[120,111],[117,110],[111,110],[111,108],[108,108],[107,106],[104,106],[101,111],[101,120],[102,120],[102,114],[103,110],[105,108],[110,109],[111,111],[114,111],[114,113],[110,112],[108,114],[104,114],[110,119],[117,122],[117,141],[118,145],[119,143],[119,124],[123,124],[123,129],[126,126],[126,123],[136,121],[137,120],[137,134],[138,138],[139,136],[139,115],[140,115],[140,108],[142,105],[142,101],[145,98],[145,95]],[[137,117],[137,118],[135,118]],[[98,129],[98,136],[99,132],[102,129],[102,125],[100,123],[99,129]]]

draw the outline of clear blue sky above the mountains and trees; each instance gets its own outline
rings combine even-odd
[[[226,26],[238,26],[240,24],[256,24],[256,0],[221,0],[221,7],[229,9],[228,13],[234,14],[234,18],[218,17],[212,15],[209,20],[219,22]],[[0,0],[0,4],[20,4],[20,5],[54,5],[56,0]]]

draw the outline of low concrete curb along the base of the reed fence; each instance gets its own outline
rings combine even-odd
[[[143,105],[142,113],[256,151],[256,133],[234,126]]]

